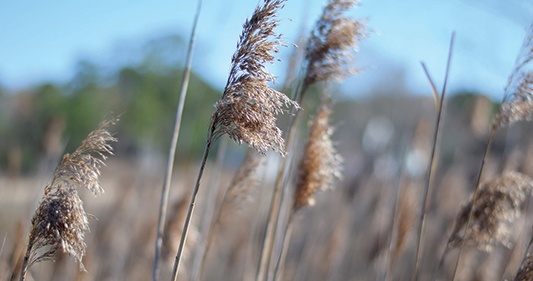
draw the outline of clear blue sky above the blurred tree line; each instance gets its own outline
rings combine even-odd
[[[224,86],[242,23],[257,3],[204,0],[199,55],[193,68],[214,87]],[[285,56],[302,23],[309,30],[323,4],[287,1],[279,16],[279,31],[288,45],[282,49]],[[112,62],[111,50],[117,42],[142,42],[171,33],[187,38],[195,8],[193,0],[0,0],[0,84],[18,89],[48,79],[65,81],[82,57]],[[533,20],[533,3],[364,0],[350,15],[365,18],[371,29],[356,55],[356,66],[363,71],[344,84],[353,95],[398,77],[410,91],[427,92],[420,61],[426,62],[441,85],[449,38],[455,31],[451,90],[480,90],[500,99],[525,30]],[[283,64],[271,67],[280,77],[284,69]]]

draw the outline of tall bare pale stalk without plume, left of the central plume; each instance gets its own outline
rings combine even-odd
[[[170,193],[170,182],[172,181],[172,170],[174,169],[174,157],[176,154],[176,146],[178,143],[178,137],[181,127],[181,119],[183,116],[183,107],[185,104],[185,96],[187,95],[187,88],[189,87],[189,79],[191,74],[192,57],[194,52],[194,46],[196,42],[196,28],[198,26],[198,19],[200,17],[200,11],[202,9],[202,0],[198,0],[198,6],[196,9],[196,15],[194,18],[193,28],[191,31],[191,38],[189,40],[189,48],[187,50],[187,61],[183,72],[180,99],[178,102],[178,109],[176,111],[176,121],[174,123],[174,132],[172,134],[172,141],[170,144],[170,150],[168,153],[167,169],[165,170],[165,179],[163,183],[163,190],[161,191],[161,202],[159,204],[159,216],[157,220],[157,238],[155,241],[155,256],[152,270],[152,280],[157,281],[159,279],[159,258],[161,256],[161,247],[163,245],[163,233],[165,232],[165,221],[167,217],[168,197]]]

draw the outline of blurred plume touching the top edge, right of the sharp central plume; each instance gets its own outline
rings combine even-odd
[[[352,51],[365,36],[362,21],[343,16],[357,0],[329,0],[307,43],[304,88],[320,81],[342,80],[355,70],[347,68]]]

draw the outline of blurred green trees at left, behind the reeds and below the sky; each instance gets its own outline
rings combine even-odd
[[[0,89],[0,168],[32,171],[42,157],[72,151],[101,120],[118,114],[119,149],[134,154],[150,146],[165,152],[183,75],[176,57],[184,55],[185,45],[177,36],[165,36],[139,49],[129,50],[138,56],[129,59],[135,63],[111,71],[82,59],[66,83],[16,93]],[[191,75],[180,133],[187,153],[201,153],[219,95]]]

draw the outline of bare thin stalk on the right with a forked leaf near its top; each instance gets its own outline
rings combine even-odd
[[[454,42],[454,38],[455,38],[455,33],[452,33],[452,38],[450,40],[450,50],[449,50],[449,53],[448,53],[448,62],[446,64],[446,74],[444,76],[444,85],[442,86],[442,93],[440,95],[440,102],[439,102],[439,108],[437,110],[437,120],[435,122],[435,131],[433,133],[433,147],[431,149],[431,156],[430,156],[430,160],[429,160],[429,167],[428,167],[428,172],[427,172],[427,179],[426,179],[426,185],[424,186],[424,191],[423,191],[423,201],[422,201],[422,205],[420,206],[420,223],[418,224],[418,230],[417,230],[417,238],[418,238],[418,243],[416,244],[416,260],[415,260],[415,270],[413,272],[413,280],[418,280],[418,270],[420,268],[420,260],[422,258],[422,243],[423,243],[423,238],[424,238],[424,230],[425,230],[425,226],[426,226],[426,213],[427,213],[427,209],[428,209],[428,197],[429,197],[429,188],[430,188],[430,185],[432,183],[432,180],[433,180],[433,165],[435,164],[435,155],[436,155],[436,151],[437,151],[437,141],[438,141],[438,138],[439,138],[439,128],[440,128],[440,123],[441,123],[441,118],[442,118],[442,108],[443,108],[443,105],[444,105],[444,96],[446,95],[446,86],[448,84],[448,75],[450,73],[450,65],[451,65],[451,61],[452,61],[452,54],[453,54],[453,42]],[[427,69],[426,69],[426,66],[424,64],[422,64],[422,67],[424,68],[424,70],[427,72]],[[429,77],[429,76],[428,76]]]

